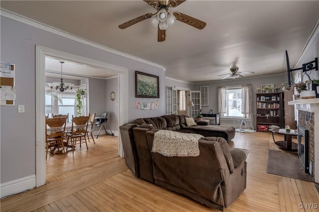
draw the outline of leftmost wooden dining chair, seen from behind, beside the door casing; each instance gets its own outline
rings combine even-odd
[[[46,156],[48,156],[49,148],[61,148],[64,153],[64,131],[66,125],[66,118],[57,117],[57,118],[47,118],[45,119],[45,147],[46,147]]]

